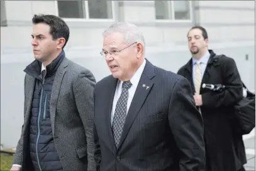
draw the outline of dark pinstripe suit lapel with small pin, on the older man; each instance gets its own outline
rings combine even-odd
[[[125,125],[123,126],[123,132],[120,138],[119,147],[121,147],[121,144],[125,140],[131,128],[131,125],[135,121],[135,118],[137,117],[140,108],[142,108],[142,105],[146,100],[148,93],[152,89],[152,86],[154,84],[152,78],[154,76],[154,66],[147,60],[142,76],[136,88],[135,95],[133,96],[133,100],[131,101],[131,105],[127,113]]]

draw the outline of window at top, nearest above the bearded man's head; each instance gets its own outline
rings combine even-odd
[[[155,19],[191,20],[191,1],[155,1]]]

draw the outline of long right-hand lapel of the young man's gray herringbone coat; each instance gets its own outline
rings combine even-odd
[[[52,125],[52,133],[54,136],[54,128],[55,128],[55,114],[56,114],[56,108],[57,108],[57,101],[58,101],[58,94],[60,93],[60,86],[62,85],[62,79],[66,72],[66,67],[68,65],[69,61],[67,58],[64,58],[60,66],[58,66],[58,69],[55,73],[55,78],[53,81],[52,86],[52,96],[50,100],[50,118],[51,118],[51,125]]]

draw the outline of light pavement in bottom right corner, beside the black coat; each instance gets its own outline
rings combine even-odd
[[[249,134],[243,135],[243,142],[247,155],[247,164],[244,165],[245,170],[255,170],[255,129]]]

